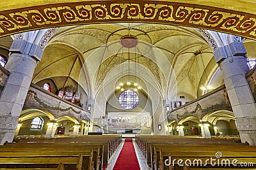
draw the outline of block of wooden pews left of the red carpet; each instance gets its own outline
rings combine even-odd
[[[40,164],[47,166],[45,169],[56,169],[62,163],[64,166],[68,165],[67,169],[70,170],[102,169],[103,156],[106,154],[108,162],[108,155],[111,155],[109,153],[113,153],[122,141],[120,136],[104,137],[29,138],[22,139],[19,143],[8,143],[0,146],[0,169],[6,166],[19,169],[22,162],[26,166],[20,169],[36,169]]]

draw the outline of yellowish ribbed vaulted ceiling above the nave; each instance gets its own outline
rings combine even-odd
[[[123,46],[120,39],[125,35],[136,37],[138,45]],[[163,96],[184,92],[195,99],[202,95],[198,87],[216,67],[210,46],[193,28],[134,23],[80,25],[62,27],[54,34],[33,82],[70,77],[86,92],[92,88],[95,95],[110,71],[119,77],[126,71],[141,80],[152,80]]]

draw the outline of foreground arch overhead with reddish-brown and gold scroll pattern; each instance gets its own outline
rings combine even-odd
[[[256,18],[252,11],[244,11],[241,8],[233,10],[230,6],[221,5],[221,3],[197,1],[189,4],[184,1],[173,3],[135,0],[129,3],[126,1],[116,3],[116,1],[77,2],[72,0],[61,2],[54,4],[44,0],[31,4],[12,3],[7,10],[2,8],[4,17],[1,19],[0,36],[46,27],[99,22],[154,22],[217,30],[253,39],[256,36],[252,29],[252,21],[248,19]],[[241,1],[237,6],[250,8],[250,3]],[[15,20],[14,16],[19,20]]]

